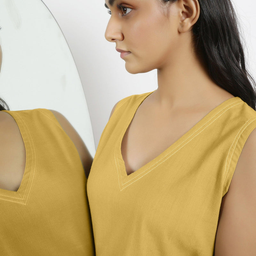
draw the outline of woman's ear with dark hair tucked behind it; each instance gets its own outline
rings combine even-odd
[[[199,18],[200,5],[198,0],[180,0],[180,33],[191,31],[193,25]]]

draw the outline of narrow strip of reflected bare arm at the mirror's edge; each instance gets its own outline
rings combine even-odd
[[[60,123],[62,129],[68,134],[69,138],[73,141],[73,143],[76,146],[76,149],[78,151],[78,154],[80,156],[81,162],[84,166],[84,172],[86,178],[88,178],[90,169],[92,166],[92,156],[89,153],[88,149],[84,145],[83,140],[79,136],[79,134],[76,132],[74,127],[68,122],[68,120],[61,115],[59,112],[55,110],[51,110],[58,122]]]

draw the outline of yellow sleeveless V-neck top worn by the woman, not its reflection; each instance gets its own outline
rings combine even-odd
[[[101,135],[87,183],[96,255],[212,256],[221,199],[256,111],[228,99],[127,175],[121,142],[150,93],[121,100]]]

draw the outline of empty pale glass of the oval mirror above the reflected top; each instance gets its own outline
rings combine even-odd
[[[2,0],[0,97],[10,110],[48,108],[74,126],[94,156],[92,125],[75,62],[41,0]]]

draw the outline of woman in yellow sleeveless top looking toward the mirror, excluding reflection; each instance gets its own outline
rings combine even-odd
[[[229,0],[106,0],[154,92],[120,100],[87,184],[96,255],[256,255],[255,83]],[[215,250],[215,252],[214,252]]]

